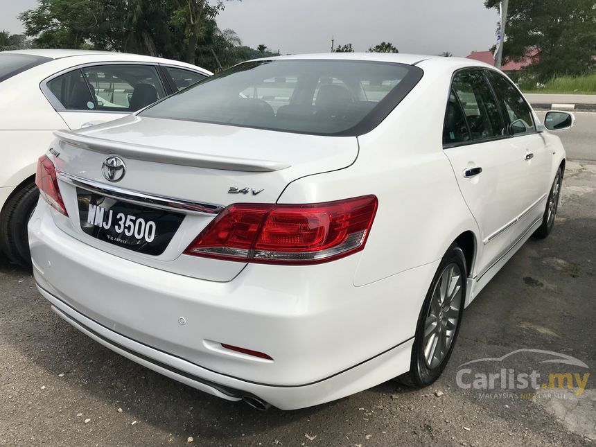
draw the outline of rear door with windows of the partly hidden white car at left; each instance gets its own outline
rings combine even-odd
[[[46,94],[71,130],[122,118],[166,96],[157,68],[98,64],[46,82]]]

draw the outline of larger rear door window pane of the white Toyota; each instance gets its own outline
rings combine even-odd
[[[453,90],[464,108],[473,141],[506,134],[495,97],[482,71],[457,73],[453,78]]]

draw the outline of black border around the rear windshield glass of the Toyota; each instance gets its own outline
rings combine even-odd
[[[234,65],[234,67],[238,67],[243,64],[251,64],[251,63],[254,64],[254,63],[275,62],[275,61],[276,60],[274,60],[274,59],[249,60],[247,62],[240,62],[239,64]],[[377,109],[377,106],[376,106],[375,107],[376,110],[373,109],[373,111],[371,111],[365,117],[365,119],[362,119],[362,121],[360,121],[360,123],[353,125],[351,128],[342,130],[340,132],[331,133],[331,134],[325,133],[325,132],[305,132],[305,131],[301,131],[301,130],[281,130],[281,129],[275,129],[275,128],[257,127],[254,125],[244,125],[244,124],[238,124],[238,123],[234,123],[234,124],[221,123],[218,121],[207,121],[207,120],[198,121],[195,119],[170,118],[167,116],[160,116],[159,119],[170,119],[173,121],[188,121],[191,123],[227,125],[227,126],[236,127],[236,128],[269,130],[271,132],[282,132],[282,133],[286,133],[286,134],[315,135],[315,136],[320,136],[320,137],[361,137],[364,134],[372,132],[375,128],[378,127],[378,125],[380,125],[380,123],[383,123],[383,121],[385,121],[385,119],[387,119],[387,116],[389,116],[394,111],[394,109],[396,109],[396,107],[401,103],[401,101],[408,94],[410,94],[410,91],[412,91],[412,89],[414,89],[414,87],[416,87],[418,85],[418,83],[424,76],[423,69],[421,69],[420,67],[415,67],[412,64],[405,64],[403,62],[384,62],[384,61],[376,61],[376,60],[351,60],[351,59],[281,59],[280,61],[283,61],[283,62],[355,62],[355,63],[371,63],[371,62],[373,62],[376,64],[394,64],[394,65],[400,65],[403,67],[409,67],[411,69],[411,71],[410,71],[410,73],[408,73],[410,76],[406,76],[406,78],[404,78],[404,80],[399,82],[398,85],[396,85],[396,87],[394,87],[394,89],[392,89],[392,91],[389,91],[389,94],[387,94],[385,96],[385,98],[383,98],[382,100],[379,101],[379,105],[381,105],[381,107],[379,107]],[[190,87],[195,87],[196,85],[199,85],[201,82],[209,80],[215,76],[220,76],[222,73],[226,73],[228,70],[234,69],[234,67],[231,67],[224,71],[220,71],[220,73],[217,73],[213,76],[207,76],[207,78],[200,80],[199,82],[191,85]],[[406,79],[407,79],[407,82],[405,81]],[[177,91],[174,95],[181,94],[183,91],[186,91],[186,89]],[[166,98],[162,98],[161,100],[158,100],[156,103],[153,103],[150,107],[143,109],[141,112],[147,112],[148,110],[152,109],[152,107],[161,103],[162,100],[166,100],[167,98],[168,97],[166,96]],[[383,104],[380,104],[380,103],[383,103]],[[150,116],[150,117],[157,118],[155,116]]]

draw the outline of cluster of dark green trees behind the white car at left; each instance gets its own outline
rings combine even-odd
[[[225,1],[40,0],[19,18],[39,48],[125,51],[216,70],[243,60],[238,35],[216,23]]]

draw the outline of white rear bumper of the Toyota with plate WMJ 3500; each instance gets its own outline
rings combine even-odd
[[[40,201],[29,223],[42,295],[89,337],[170,378],[289,410],[359,392],[410,367],[434,263],[358,288],[351,283],[358,256],[305,267],[248,265],[233,281],[216,283],[89,247],[58,229],[52,214]]]

